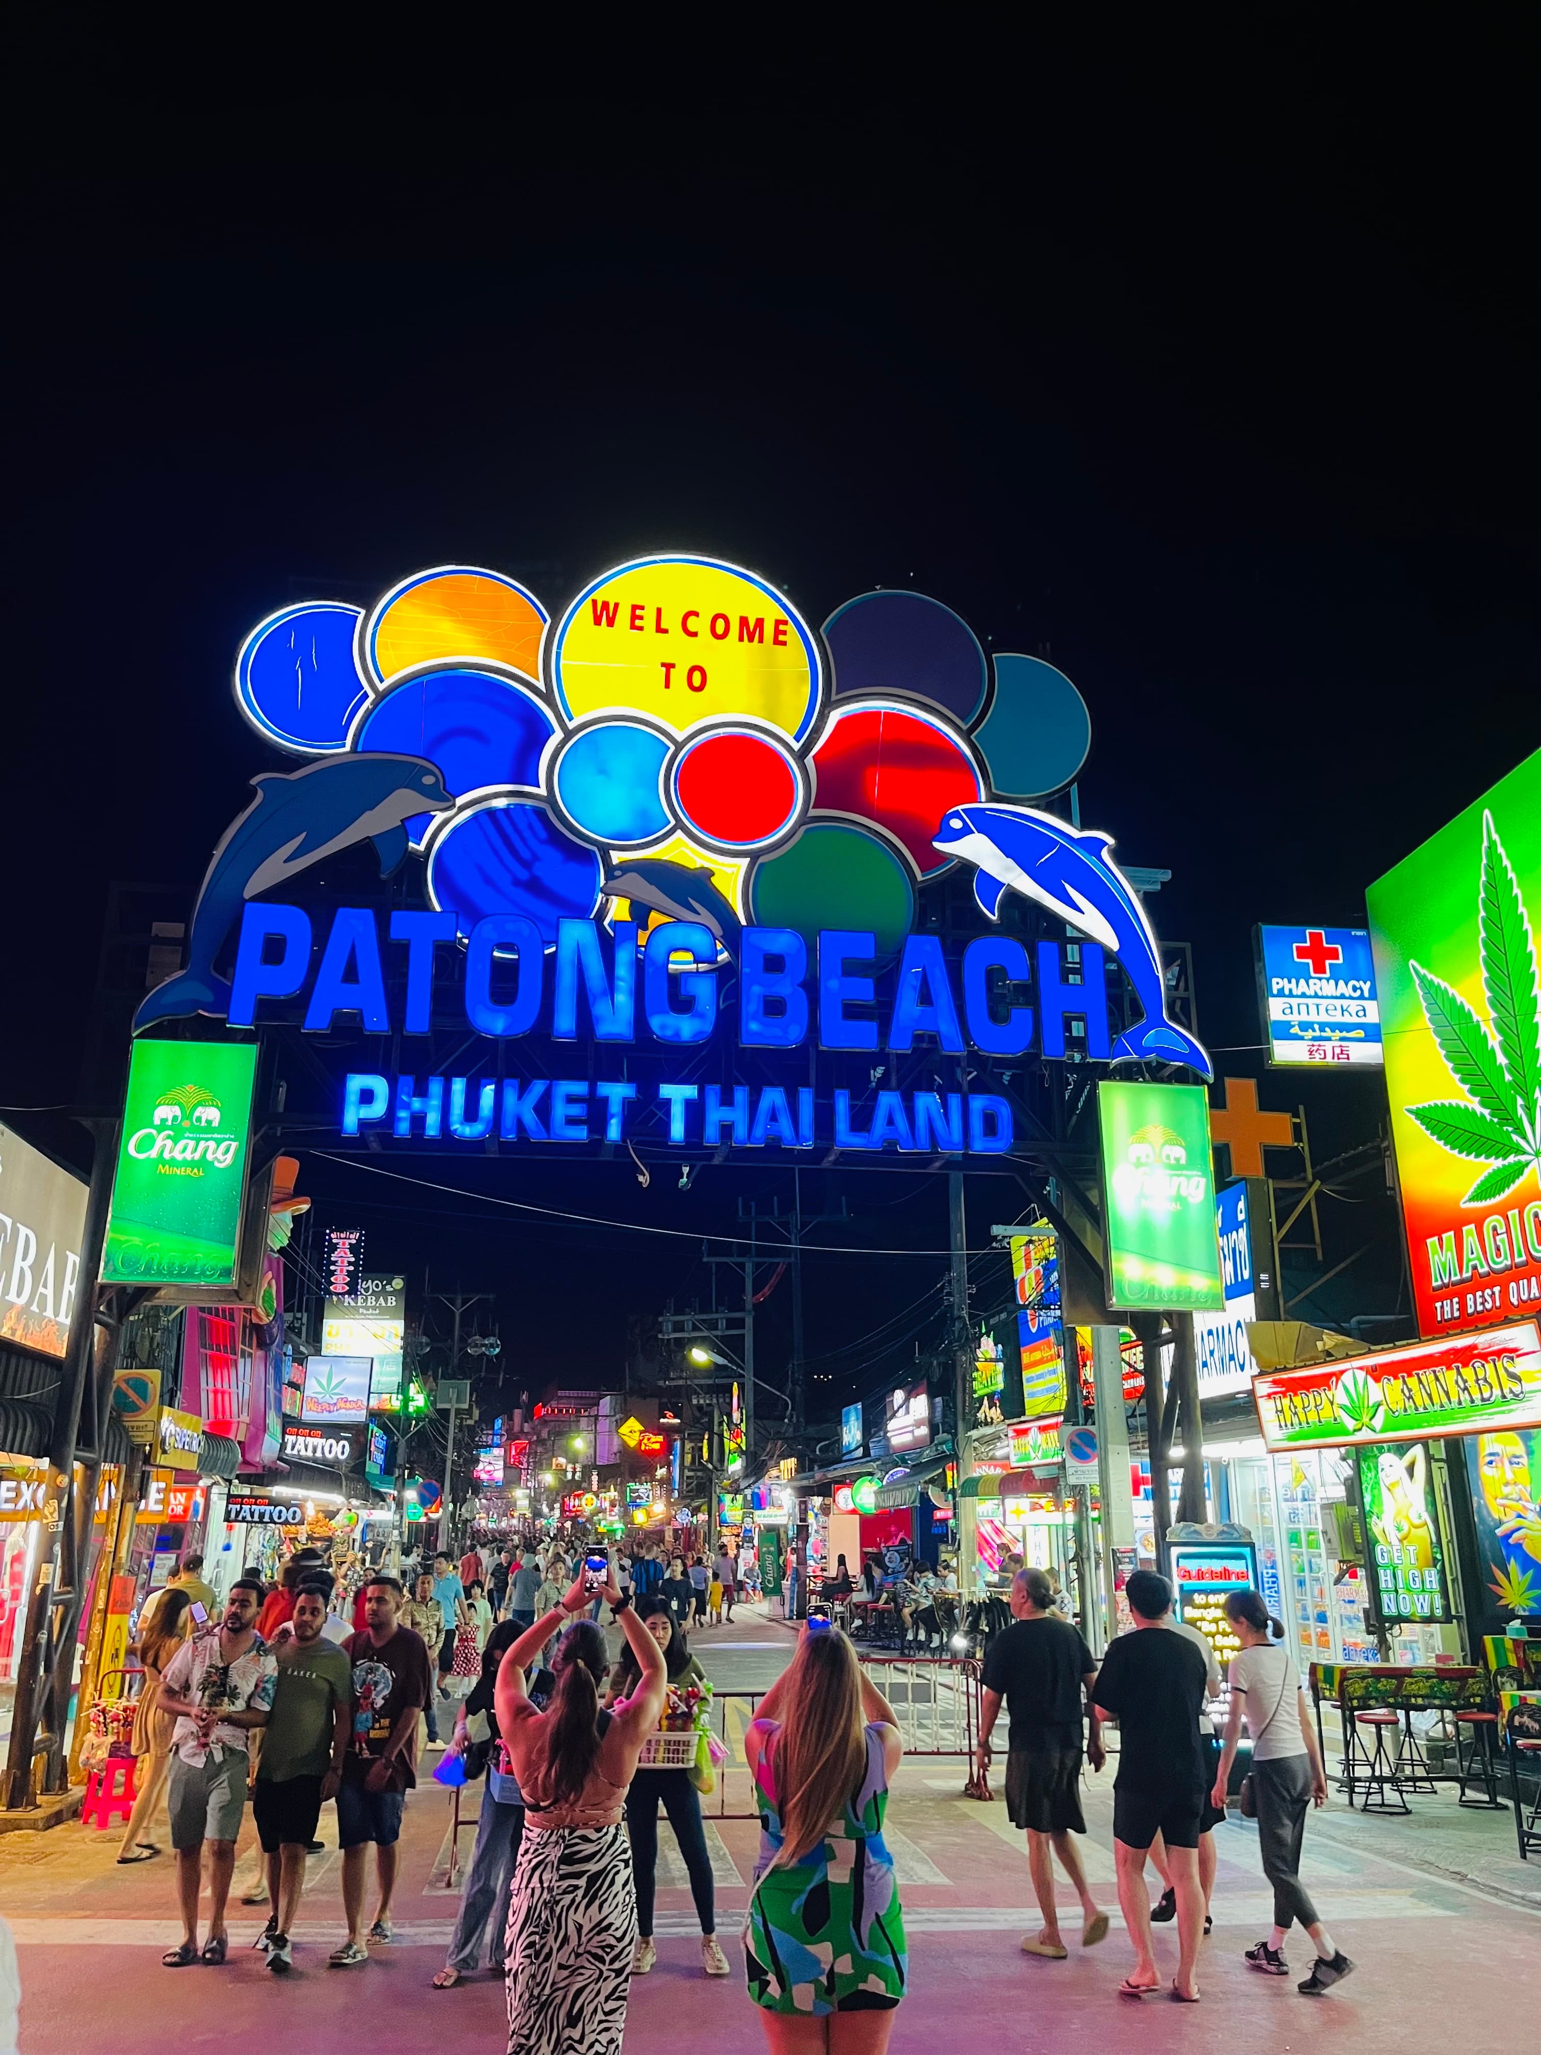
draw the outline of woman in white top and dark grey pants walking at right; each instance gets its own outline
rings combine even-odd
[[[1274,1932],[1247,1948],[1247,1963],[1266,1977],[1288,1977],[1284,1936],[1292,1921],[1311,1936],[1317,1960],[1299,1989],[1321,1997],[1354,1969],[1317,1917],[1301,1882],[1301,1841],[1307,1804],[1327,1802],[1327,1771],[1305,1691],[1294,1675],[1284,1628],[1255,1591],[1233,1591],[1225,1617],[1237,1630],[1241,1654],[1231,1658],[1231,1716],[1225,1726],[1212,1802],[1225,1804],[1225,1786],[1241,1739],[1241,1716],[1251,1734],[1251,1790],[1257,1800],[1257,1847],[1264,1876],[1274,1886]]]

